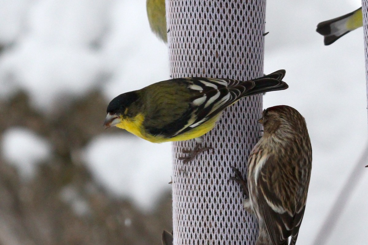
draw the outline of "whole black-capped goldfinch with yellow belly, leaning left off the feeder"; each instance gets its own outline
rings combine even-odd
[[[114,98],[104,126],[126,129],[154,143],[195,138],[194,150],[180,158],[187,162],[204,150],[199,149],[202,136],[215,126],[223,109],[243,97],[287,89],[284,75],[285,70],[279,70],[248,81],[176,78],[154,83]]]

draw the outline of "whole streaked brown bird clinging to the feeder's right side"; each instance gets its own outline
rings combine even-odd
[[[231,178],[247,195],[244,208],[259,224],[256,245],[296,243],[312,168],[312,147],[300,113],[287,105],[270,107],[259,119],[263,136],[248,159],[248,181]]]

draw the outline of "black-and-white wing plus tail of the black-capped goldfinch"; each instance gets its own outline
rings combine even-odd
[[[190,106],[182,116],[173,122],[160,128],[147,127],[146,130],[152,135],[175,137],[205,123],[240,98],[267,91],[287,89],[287,84],[281,80],[284,75],[285,71],[280,70],[248,81],[196,77],[172,79],[170,82],[184,84],[187,87],[191,94],[188,99]],[[194,103],[196,100],[200,102]],[[194,120],[188,125],[193,115]]]

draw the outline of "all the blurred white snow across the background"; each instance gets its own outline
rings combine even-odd
[[[283,97],[266,94],[263,106],[298,109],[313,147],[298,244],[312,244],[368,144],[363,29],[330,46],[315,32],[319,22],[360,6],[359,0],[267,1],[264,71],[286,69],[289,89]],[[149,29],[145,0],[2,0],[0,45],[0,101],[25,91],[30,107],[50,120],[93,91],[107,105],[120,93],[169,79],[167,47]],[[170,191],[171,144],[103,131],[105,109],[98,113],[100,132],[73,149],[72,159],[85,163],[110,195],[152,212]],[[24,126],[23,120],[20,113],[19,125],[2,130],[0,152],[26,182],[37,176],[39,163],[50,162],[55,149],[42,129]],[[92,119],[84,114],[76,120],[83,125]],[[327,244],[367,244],[367,164]],[[78,215],[89,212],[70,188],[61,198]]]

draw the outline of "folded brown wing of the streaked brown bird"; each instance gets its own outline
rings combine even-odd
[[[272,155],[260,169],[256,185],[259,190],[259,212],[264,219],[273,245],[287,245],[288,237],[296,242],[304,215],[305,202],[298,200],[299,184]],[[293,188],[294,187],[294,188]]]

